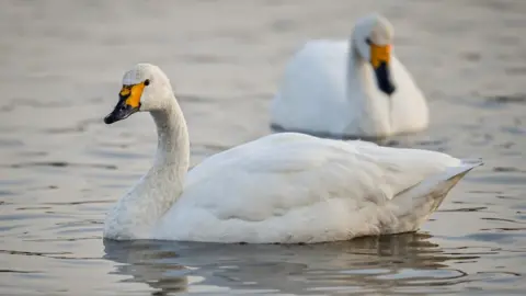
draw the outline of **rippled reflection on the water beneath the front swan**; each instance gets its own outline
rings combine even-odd
[[[467,275],[448,267],[448,261],[478,259],[445,254],[425,234],[306,246],[105,240],[104,247],[104,258],[121,263],[116,274],[148,284],[156,295],[205,286],[208,292],[293,294],[428,291]]]

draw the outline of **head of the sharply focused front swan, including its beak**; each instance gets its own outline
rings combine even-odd
[[[172,99],[172,87],[164,72],[151,64],[137,64],[123,77],[118,102],[104,123],[112,124],[127,118],[136,112],[151,112],[165,109]]]

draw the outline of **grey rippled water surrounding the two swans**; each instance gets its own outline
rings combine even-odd
[[[149,116],[105,126],[138,61],[171,77],[192,162],[270,133],[287,58],[385,13],[432,126],[391,145],[482,157],[418,234],[316,246],[103,241],[149,168]],[[4,295],[523,295],[526,3],[2,1],[0,288]]]

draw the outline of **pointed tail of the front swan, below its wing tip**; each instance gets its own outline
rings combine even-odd
[[[472,169],[482,166],[481,159],[462,159],[457,167],[447,168],[398,193],[391,203],[398,223],[386,229],[388,234],[416,231],[435,212],[449,191]]]

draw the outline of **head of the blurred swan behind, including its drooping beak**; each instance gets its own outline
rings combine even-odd
[[[392,38],[392,25],[380,14],[359,19],[352,37],[358,55],[373,66],[378,89],[387,95],[391,95],[396,90],[390,73]]]

